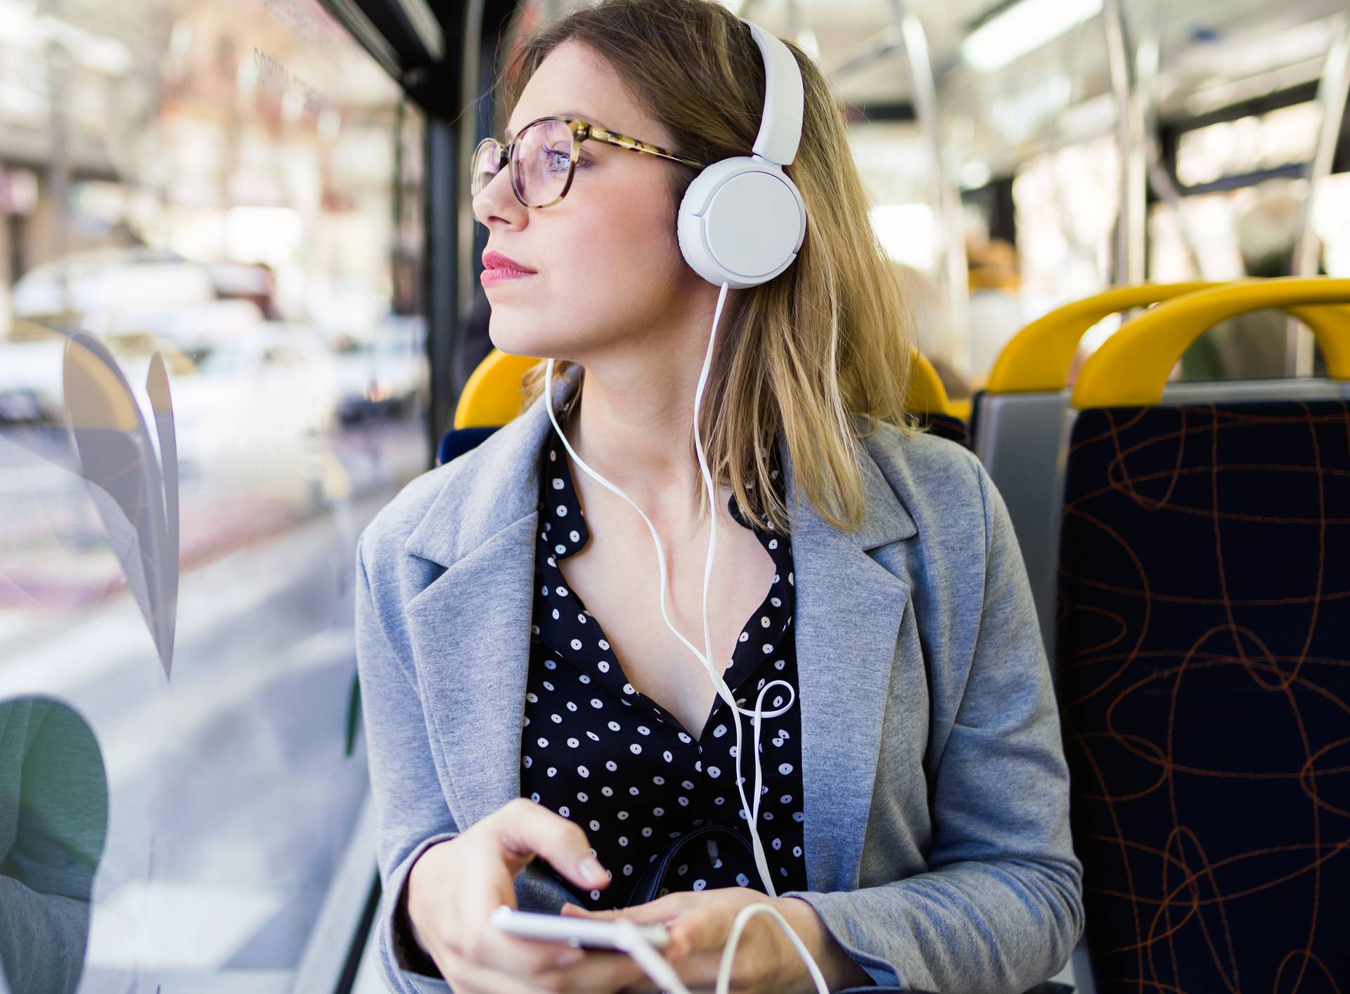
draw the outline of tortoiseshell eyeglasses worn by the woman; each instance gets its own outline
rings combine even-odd
[[[509,163],[510,188],[516,200],[525,207],[552,207],[571,189],[582,142],[590,138],[695,169],[703,167],[702,162],[670,149],[616,135],[590,122],[567,116],[540,117],[522,127],[506,146],[495,138],[485,138],[478,143],[468,170],[473,196],[477,197],[502,166]]]

